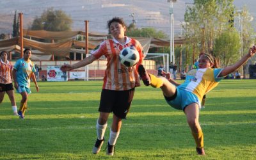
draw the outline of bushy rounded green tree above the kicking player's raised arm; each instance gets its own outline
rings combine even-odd
[[[239,59],[239,33],[236,29],[223,31],[214,43],[214,56],[220,58],[221,66],[227,67]]]

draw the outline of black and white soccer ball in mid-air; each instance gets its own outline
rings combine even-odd
[[[119,60],[122,65],[132,67],[140,60],[140,54],[135,47],[125,47],[119,54]]]

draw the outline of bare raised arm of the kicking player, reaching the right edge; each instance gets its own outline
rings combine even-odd
[[[246,61],[248,61],[256,52],[256,47],[253,46],[249,49],[248,54],[245,54],[241,60],[237,61],[234,65],[228,66],[223,68],[223,70],[220,73],[220,77],[227,76],[228,74],[234,72],[237,70],[237,68],[241,67]]]

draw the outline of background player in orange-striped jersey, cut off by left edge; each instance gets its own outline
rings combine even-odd
[[[12,63],[7,60],[8,54],[2,51],[0,61],[0,103],[3,102],[6,92],[12,104],[13,115],[18,115],[12,84]]]

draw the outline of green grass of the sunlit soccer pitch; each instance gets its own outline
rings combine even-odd
[[[92,154],[102,81],[40,82],[31,86],[26,119],[0,104],[0,159],[255,159],[256,80],[223,80],[200,112],[207,156],[196,155],[186,116],[160,89],[136,88],[114,157]],[[20,95],[15,93],[17,104]],[[109,117],[106,140],[112,115]],[[104,143],[103,149],[106,147]]]

